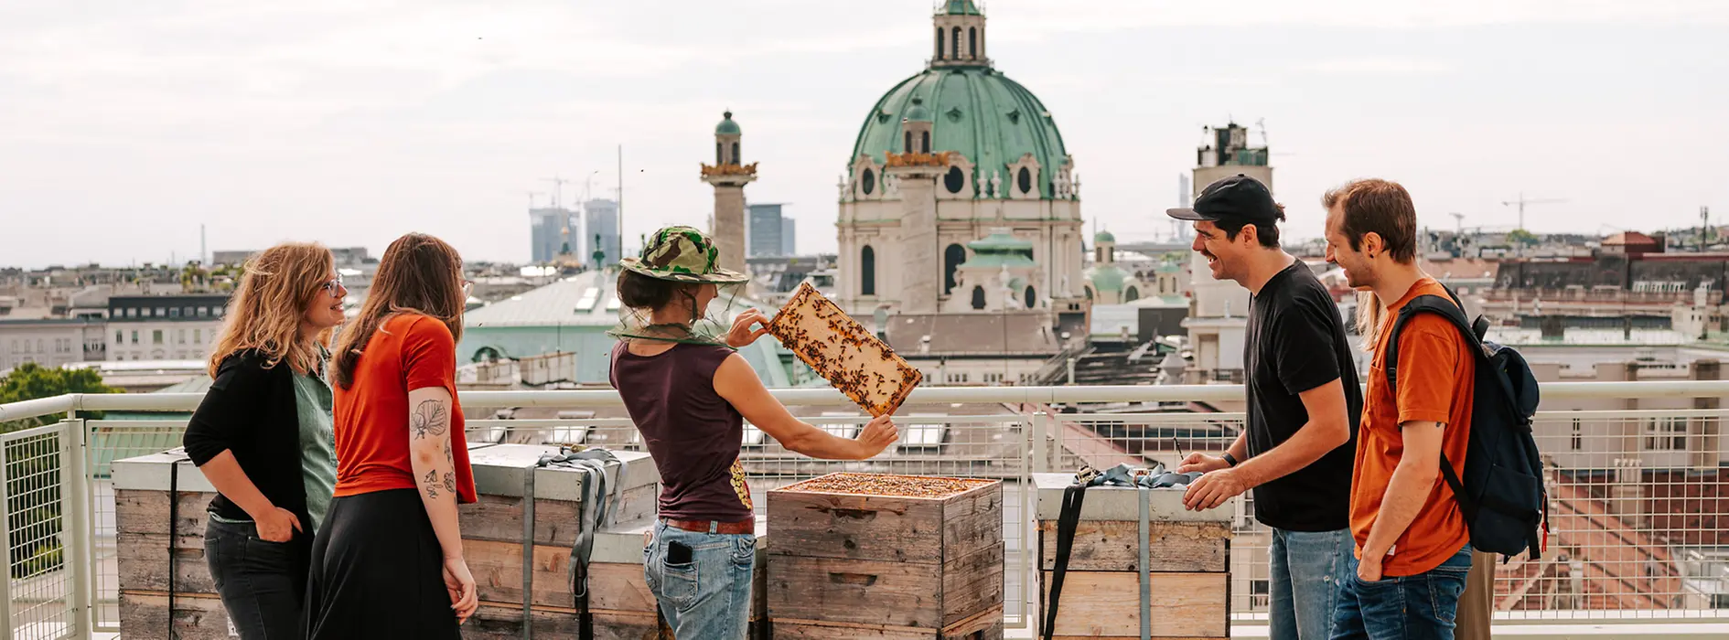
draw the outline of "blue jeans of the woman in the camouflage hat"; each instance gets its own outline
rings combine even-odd
[[[667,562],[674,543],[690,548],[690,562]],[[697,533],[655,522],[643,548],[648,592],[679,638],[743,640],[752,569],[756,536],[749,533]]]

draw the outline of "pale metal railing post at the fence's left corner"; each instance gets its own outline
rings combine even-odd
[[[73,637],[88,638],[95,624],[90,602],[95,585],[90,571],[95,567],[95,548],[90,543],[90,474],[86,469],[85,420],[62,420],[61,426],[61,543],[73,573],[66,605],[73,621]],[[169,540],[173,545],[173,540]]]

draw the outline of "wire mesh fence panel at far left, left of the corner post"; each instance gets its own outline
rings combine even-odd
[[[0,436],[12,638],[66,638],[78,630],[67,562],[80,559],[67,554],[66,514],[61,512],[64,434],[61,426],[47,426]]]

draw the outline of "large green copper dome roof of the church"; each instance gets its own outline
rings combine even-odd
[[[915,106],[913,97],[922,104]],[[1039,161],[1039,194],[1055,194],[1056,170],[1069,157],[1056,123],[1032,92],[984,66],[925,69],[894,85],[864,116],[847,164],[859,156],[884,163],[885,152],[906,152],[901,119],[915,109],[930,112],[930,150],[956,150],[979,166],[980,194],[989,194],[991,175],[998,173],[1006,197],[1015,183],[1008,163],[1024,154]]]

